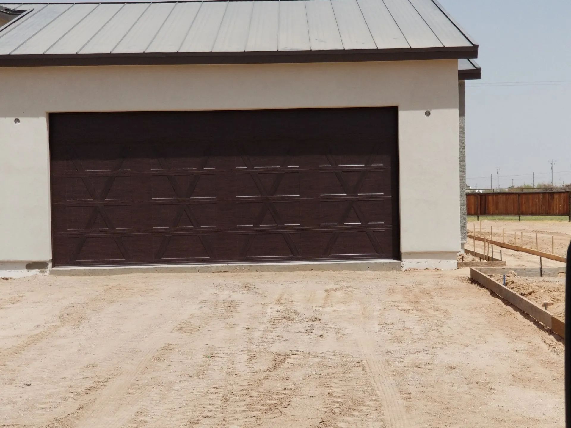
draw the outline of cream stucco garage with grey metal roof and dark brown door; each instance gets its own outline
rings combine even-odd
[[[435,0],[2,7],[0,276],[456,269],[480,69]]]

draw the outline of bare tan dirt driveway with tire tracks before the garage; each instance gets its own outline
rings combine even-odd
[[[562,427],[561,342],[462,274],[0,281],[0,427]]]

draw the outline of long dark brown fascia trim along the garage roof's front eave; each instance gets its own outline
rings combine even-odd
[[[263,64],[477,58],[477,47],[232,53],[0,55],[0,67]]]

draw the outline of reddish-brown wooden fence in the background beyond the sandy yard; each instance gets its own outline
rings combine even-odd
[[[469,216],[569,216],[571,192],[468,193]]]

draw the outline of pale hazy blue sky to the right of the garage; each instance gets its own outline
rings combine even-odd
[[[440,0],[480,45],[482,79],[467,82],[468,184],[571,183],[571,1]],[[471,86],[485,82],[547,82]],[[524,175],[526,174],[526,175]],[[477,178],[476,178],[477,177]],[[482,178],[480,178],[482,177]],[[483,178],[485,177],[485,178]]]

